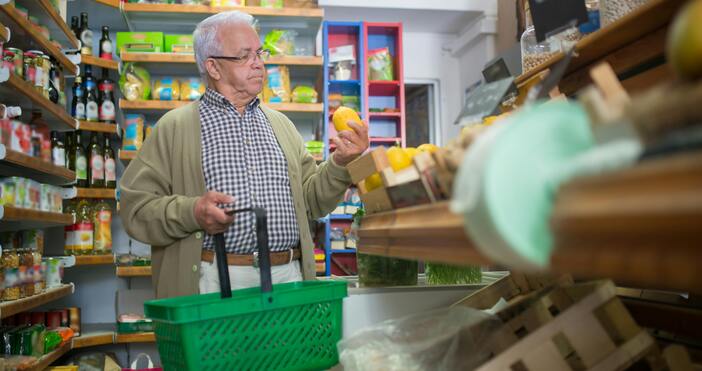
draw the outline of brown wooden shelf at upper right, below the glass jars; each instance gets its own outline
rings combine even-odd
[[[590,83],[588,66],[602,60],[610,62],[619,74],[663,56],[667,25],[684,0],[651,0],[619,20],[585,36],[575,45],[573,58],[561,82],[561,91],[571,94]],[[538,67],[515,80],[524,85],[532,77],[564,58],[556,53]]]

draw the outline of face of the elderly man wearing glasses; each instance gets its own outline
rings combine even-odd
[[[230,25],[220,28],[219,42],[222,56],[251,58],[247,61],[216,59],[221,74],[220,82],[252,98],[263,89],[263,61],[256,56],[261,41],[250,26]]]

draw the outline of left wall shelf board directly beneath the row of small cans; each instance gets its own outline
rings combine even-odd
[[[73,216],[13,206],[0,206],[0,231],[41,229],[73,224]]]

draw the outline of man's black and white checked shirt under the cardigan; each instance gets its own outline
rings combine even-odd
[[[243,117],[218,92],[207,89],[200,102],[202,167],[210,191],[234,196],[234,208],[263,207],[268,213],[271,251],[297,246],[288,163],[266,115],[254,99]],[[253,213],[238,214],[224,234],[228,253],[251,254],[256,249]],[[203,248],[214,250],[206,235]]]

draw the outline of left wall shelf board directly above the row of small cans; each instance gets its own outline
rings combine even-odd
[[[48,184],[63,185],[76,180],[76,173],[40,158],[8,149],[0,144],[0,175],[22,176]]]

